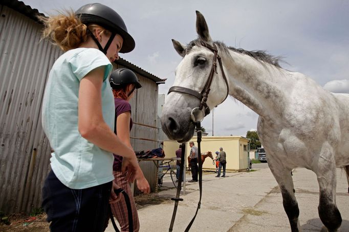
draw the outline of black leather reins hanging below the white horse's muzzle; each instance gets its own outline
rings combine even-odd
[[[189,231],[192,223],[195,220],[195,217],[197,217],[198,211],[201,207],[201,197],[202,197],[202,161],[201,161],[201,147],[200,147],[200,142],[201,142],[201,123],[200,121],[195,122],[197,126],[197,134],[198,134],[198,161],[199,161],[199,189],[200,189],[200,198],[198,202],[198,208],[197,211],[195,212],[194,217],[191,219],[189,222],[187,228],[185,229],[185,232]],[[183,201],[182,198],[179,198],[181,189],[182,189],[182,179],[183,179],[183,169],[184,169],[184,157],[185,157],[185,143],[182,143],[182,156],[181,156],[181,167],[180,167],[180,177],[178,180],[178,187],[177,187],[177,194],[176,197],[172,197],[171,200],[174,200],[174,209],[173,209],[173,214],[172,214],[172,219],[171,219],[171,224],[168,229],[169,232],[172,231],[173,229],[173,224],[174,224],[174,219],[176,218],[176,213],[177,213],[177,208],[178,208],[178,203],[179,201]],[[190,165],[190,164],[189,164]]]

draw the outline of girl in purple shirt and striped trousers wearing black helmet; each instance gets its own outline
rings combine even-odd
[[[133,121],[131,118],[131,105],[129,104],[129,101],[134,97],[135,90],[141,88],[142,85],[139,83],[137,75],[127,68],[119,68],[113,71],[109,81],[113,89],[115,102],[114,132],[124,144],[132,148],[130,130],[132,129]],[[136,154],[134,155],[136,156]],[[128,195],[132,209],[133,231],[137,232],[139,231],[140,226],[136,203],[133,197],[133,192],[126,180],[126,175],[121,171],[122,160],[122,156],[114,154],[114,182],[120,186],[120,188],[124,189]],[[141,192],[148,194],[150,192],[149,184],[144,177],[142,170],[139,170],[139,172],[141,175],[136,178],[137,188]],[[116,203],[112,203],[111,209],[113,215],[119,222],[121,232],[130,231],[128,217],[127,214],[125,214],[125,212],[127,212],[125,198],[122,198]]]

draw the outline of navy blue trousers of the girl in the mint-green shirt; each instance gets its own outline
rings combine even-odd
[[[51,170],[42,188],[42,207],[51,222],[52,232],[102,232],[110,214],[112,182],[71,189],[63,185]]]

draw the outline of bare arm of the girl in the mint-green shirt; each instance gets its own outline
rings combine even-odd
[[[132,148],[126,146],[104,122],[101,89],[104,67],[89,72],[80,82],[78,104],[78,129],[83,138],[101,149],[119,154],[127,159],[127,178],[134,181],[139,165]]]

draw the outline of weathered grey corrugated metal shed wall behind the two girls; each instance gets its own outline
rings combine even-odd
[[[49,70],[62,52],[46,40],[39,42],[40,24],[0,7],[0,210],[29,213],[40,207],[41,186],[50,170],[41,101]],[[156,126],[158,87],[139,78],[143,88],[131,102],[132,117],[136,123]],[[133,139],[135,150],[158,145],[155,128],[135,125],[132,136],[154,140]],[[147,179],[155,180],[154,164],[143,163]],[[156,183],[149,184],[155,188]]]

